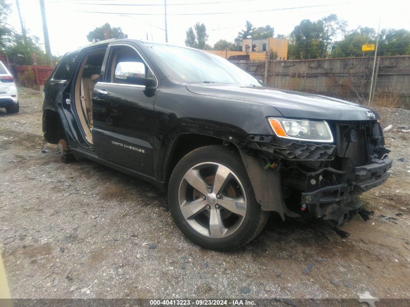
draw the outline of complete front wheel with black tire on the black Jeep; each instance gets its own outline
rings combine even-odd
[[[241,157],[221,145],[197,148],[178,162],[169,180],[168,203],[189,239],[216,250],[252,241],[269,217],[256,202]]]

